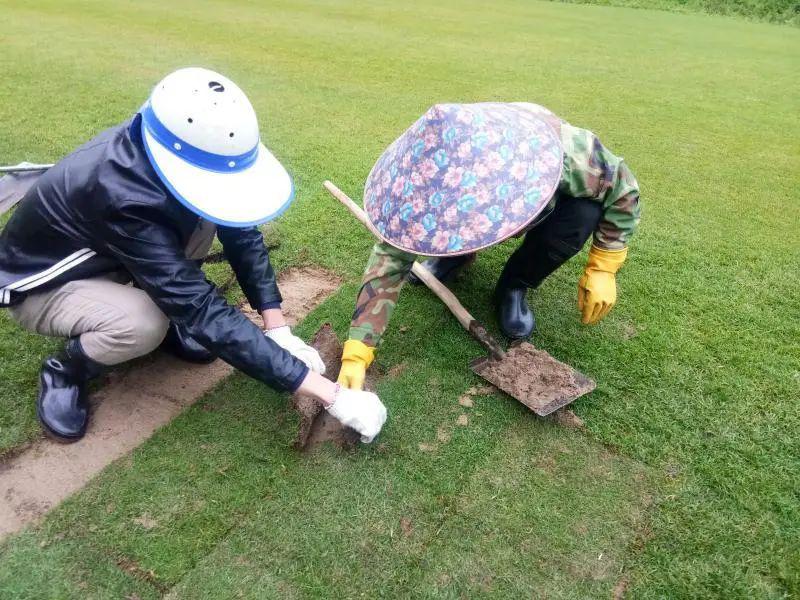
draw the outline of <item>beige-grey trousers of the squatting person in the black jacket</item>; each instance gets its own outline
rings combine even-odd
[[[186,257],[204,258],[216,227],[201,221],[186,247]],[[103,365],[149,354],[161,344],[169,320],[146,292],[130,285],[124,273],[70,281],[30,294],[9,309],[29,331],[53,337],[80,337],[83,351]]]

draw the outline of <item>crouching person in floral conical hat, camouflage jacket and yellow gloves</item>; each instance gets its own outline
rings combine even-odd
[[[615,274],[639,222],[639,189],[592,132],[529,103],[431,108],[369,175],[364,208],[382,238],[356,301],[339,383],[360,389],[417,256],[442,281],[476,252],[524,235],[495,286],[500,328],[535,328],[528,289],[594,241],[578,282],[578,309],[597,323],[616,303]],[[411,276],[413,283],[419,283]]]

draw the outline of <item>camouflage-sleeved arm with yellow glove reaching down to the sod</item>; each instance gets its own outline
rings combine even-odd
[[[344,344],[338,379],[341,385],[351,389],[363,387],[366,370],[372,364],[375,348],[380,345],[415,259],[415,255],[384,242],[373,246]]]

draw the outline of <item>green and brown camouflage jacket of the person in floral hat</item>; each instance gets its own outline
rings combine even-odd
[[[561,132],[564,169],[558,186],[562,202],[590,198],[603,204],[603,217],[594,232],[594,245],[621,250],[639,223],[639,186],[623,159],[612,154],[595,134],[569,123],[541,107],[550,124]],[[555,203],[555,197],[551,205]],[[364,271],[363,283],[350,324],[350,339],[368,346],[380,344],[416,256],[378,242]]]

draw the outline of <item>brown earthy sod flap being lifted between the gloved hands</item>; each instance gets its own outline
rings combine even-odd
[[[328,376],[336,377],[342,366],[342,344],[329,323],[319,328],[311,345],[322,357]],[[306,450],[323,442],[352,448],[358,442],[358,432],[339,423],[314,398],[296,394],[292,397],[292,404],[300,413],[300,429],[294,441],[295,448]]]

